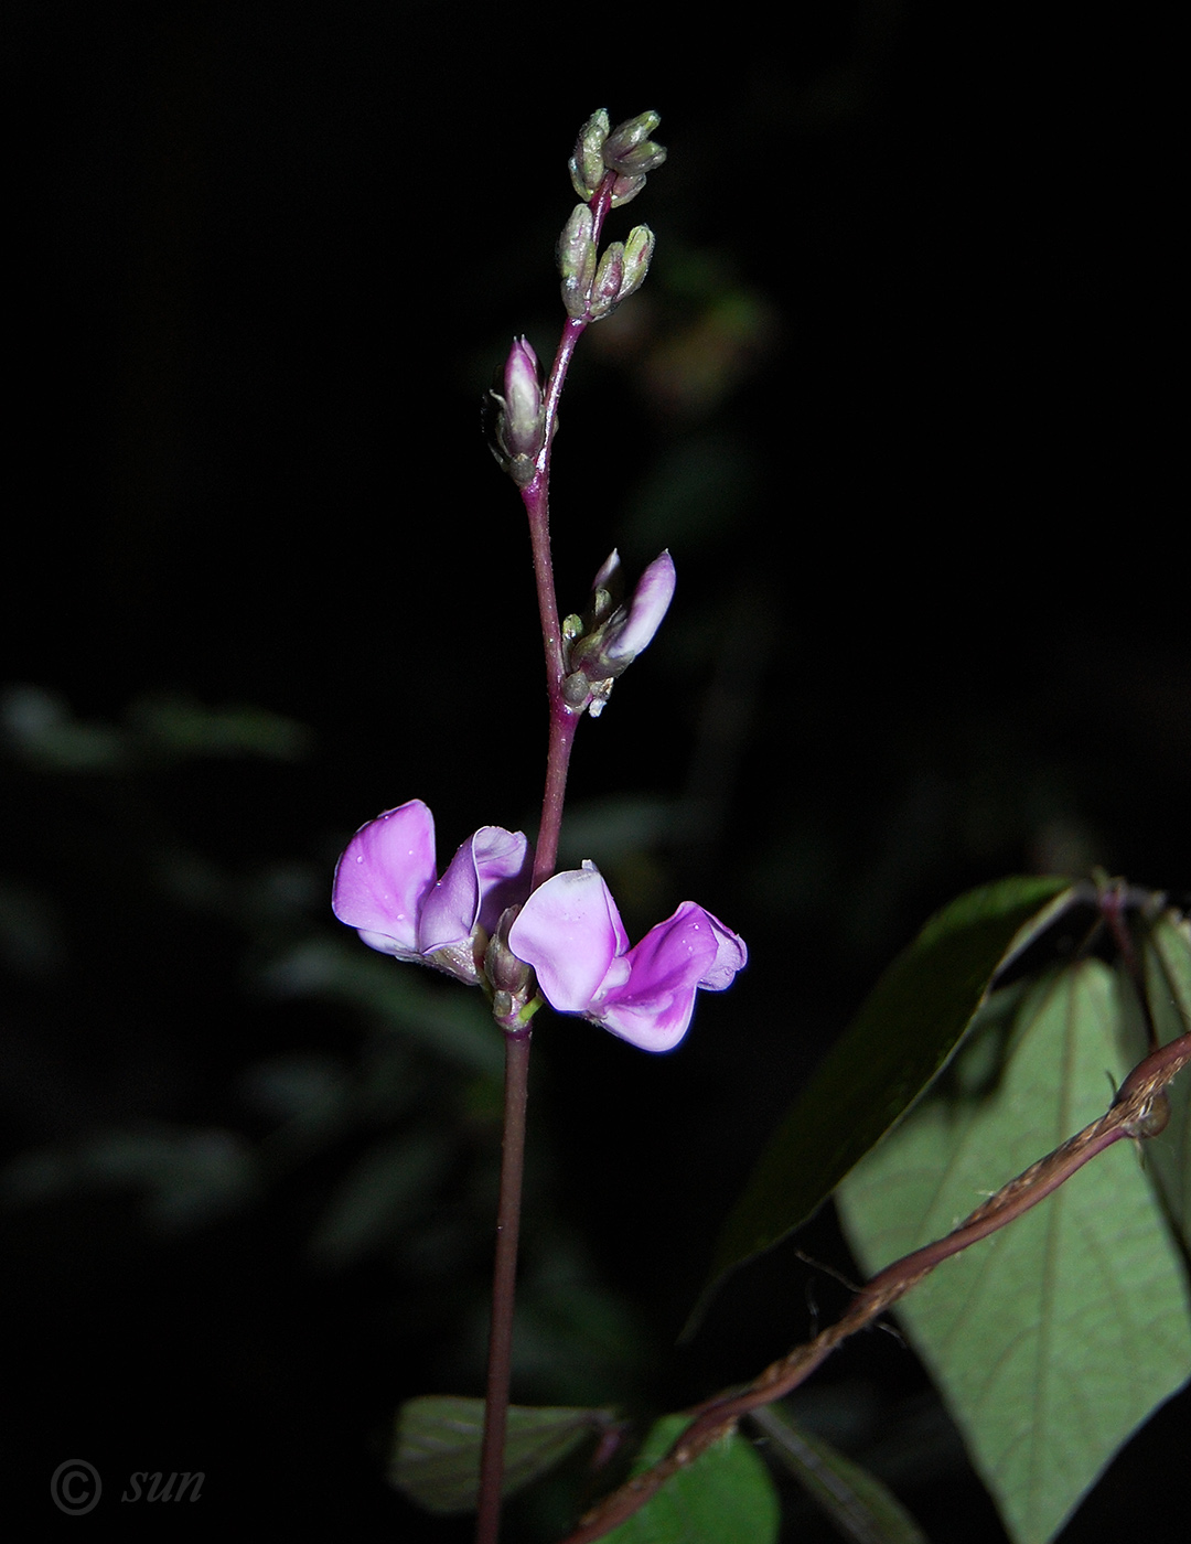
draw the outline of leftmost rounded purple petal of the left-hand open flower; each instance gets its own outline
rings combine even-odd
[[[331,908],[369,948],[417,957],[417,916],[434,885],[434,817],[420,798],[360,826],[335,868]]]

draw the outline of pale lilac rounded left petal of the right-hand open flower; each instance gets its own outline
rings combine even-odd
[[[592,863],[555,874],[530,896],[508,929],[517,959],[559,1013],[585,1013],[627,943],[616,902]]]

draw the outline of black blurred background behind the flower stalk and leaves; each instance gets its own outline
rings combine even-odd
[[[83,1525],[45,1495],[71,1456],[110,1518],[133,1471],[205,1471],[130,1529],[467,1536],[383,1467],[402,1399],[480,1390],[499,1048],[451,984],[385,997],[374,965],[416,973],[326,899],[406,798],[443,860],[533,829],[528,547],[479,401],[513,332],[553,352],[595,107],[655,107],[670,161],[613,216],[657,232],[647,287],[567,389],[559,591],[615,542],[669,545],[678,593],[581,730],[564,857],[633,937],[689,896],[752,960],[672,1058],[542,1017],[517,1396],[678,1408],[837,1311],[777,1251],[670,1349],[766,1133],[935,906],[1092,865],[1186,894],[1168,40],[941,11],[9,8],[23,1536]],[[416,1027],[468,1010],[454,1051]],[[850,1269],[830,1218],[803,1244]],[[931,1538],[1003,1536],[891,1337],[805,1413]],[[1176,1400],[1067,1538],[1185,1433]]]

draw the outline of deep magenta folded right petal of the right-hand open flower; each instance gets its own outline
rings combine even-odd
[[[629,980],[595,1005],[596,1021],[641,1050],[672,1050],[687,1031],[695,991],[715,970],[717,951],[712,917],[684,900],[629,950]]]

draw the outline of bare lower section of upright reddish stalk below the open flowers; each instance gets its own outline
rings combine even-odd
[[[480,1499],[476,1544],[496,1544],[500,1532],[500,1482],[505,1464],[508,1387],[513,1371],[513,1303],[521,1231],[521,1183],[525,1170],[525,1099],[530,1078],[530,1028],[505,1030],[505,1130],[500,1146],[500,1198],[496,1207],[493,1319],[488,1339],[488,1388],[480,1447]]]

